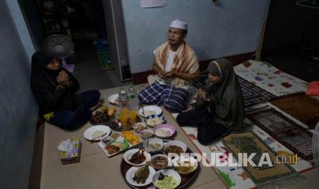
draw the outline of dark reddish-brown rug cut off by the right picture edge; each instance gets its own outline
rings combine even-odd
[[[305,123],[310,129],[314,129],[319,121],[319,101],[304,92],[272,99],[270,103]]]

